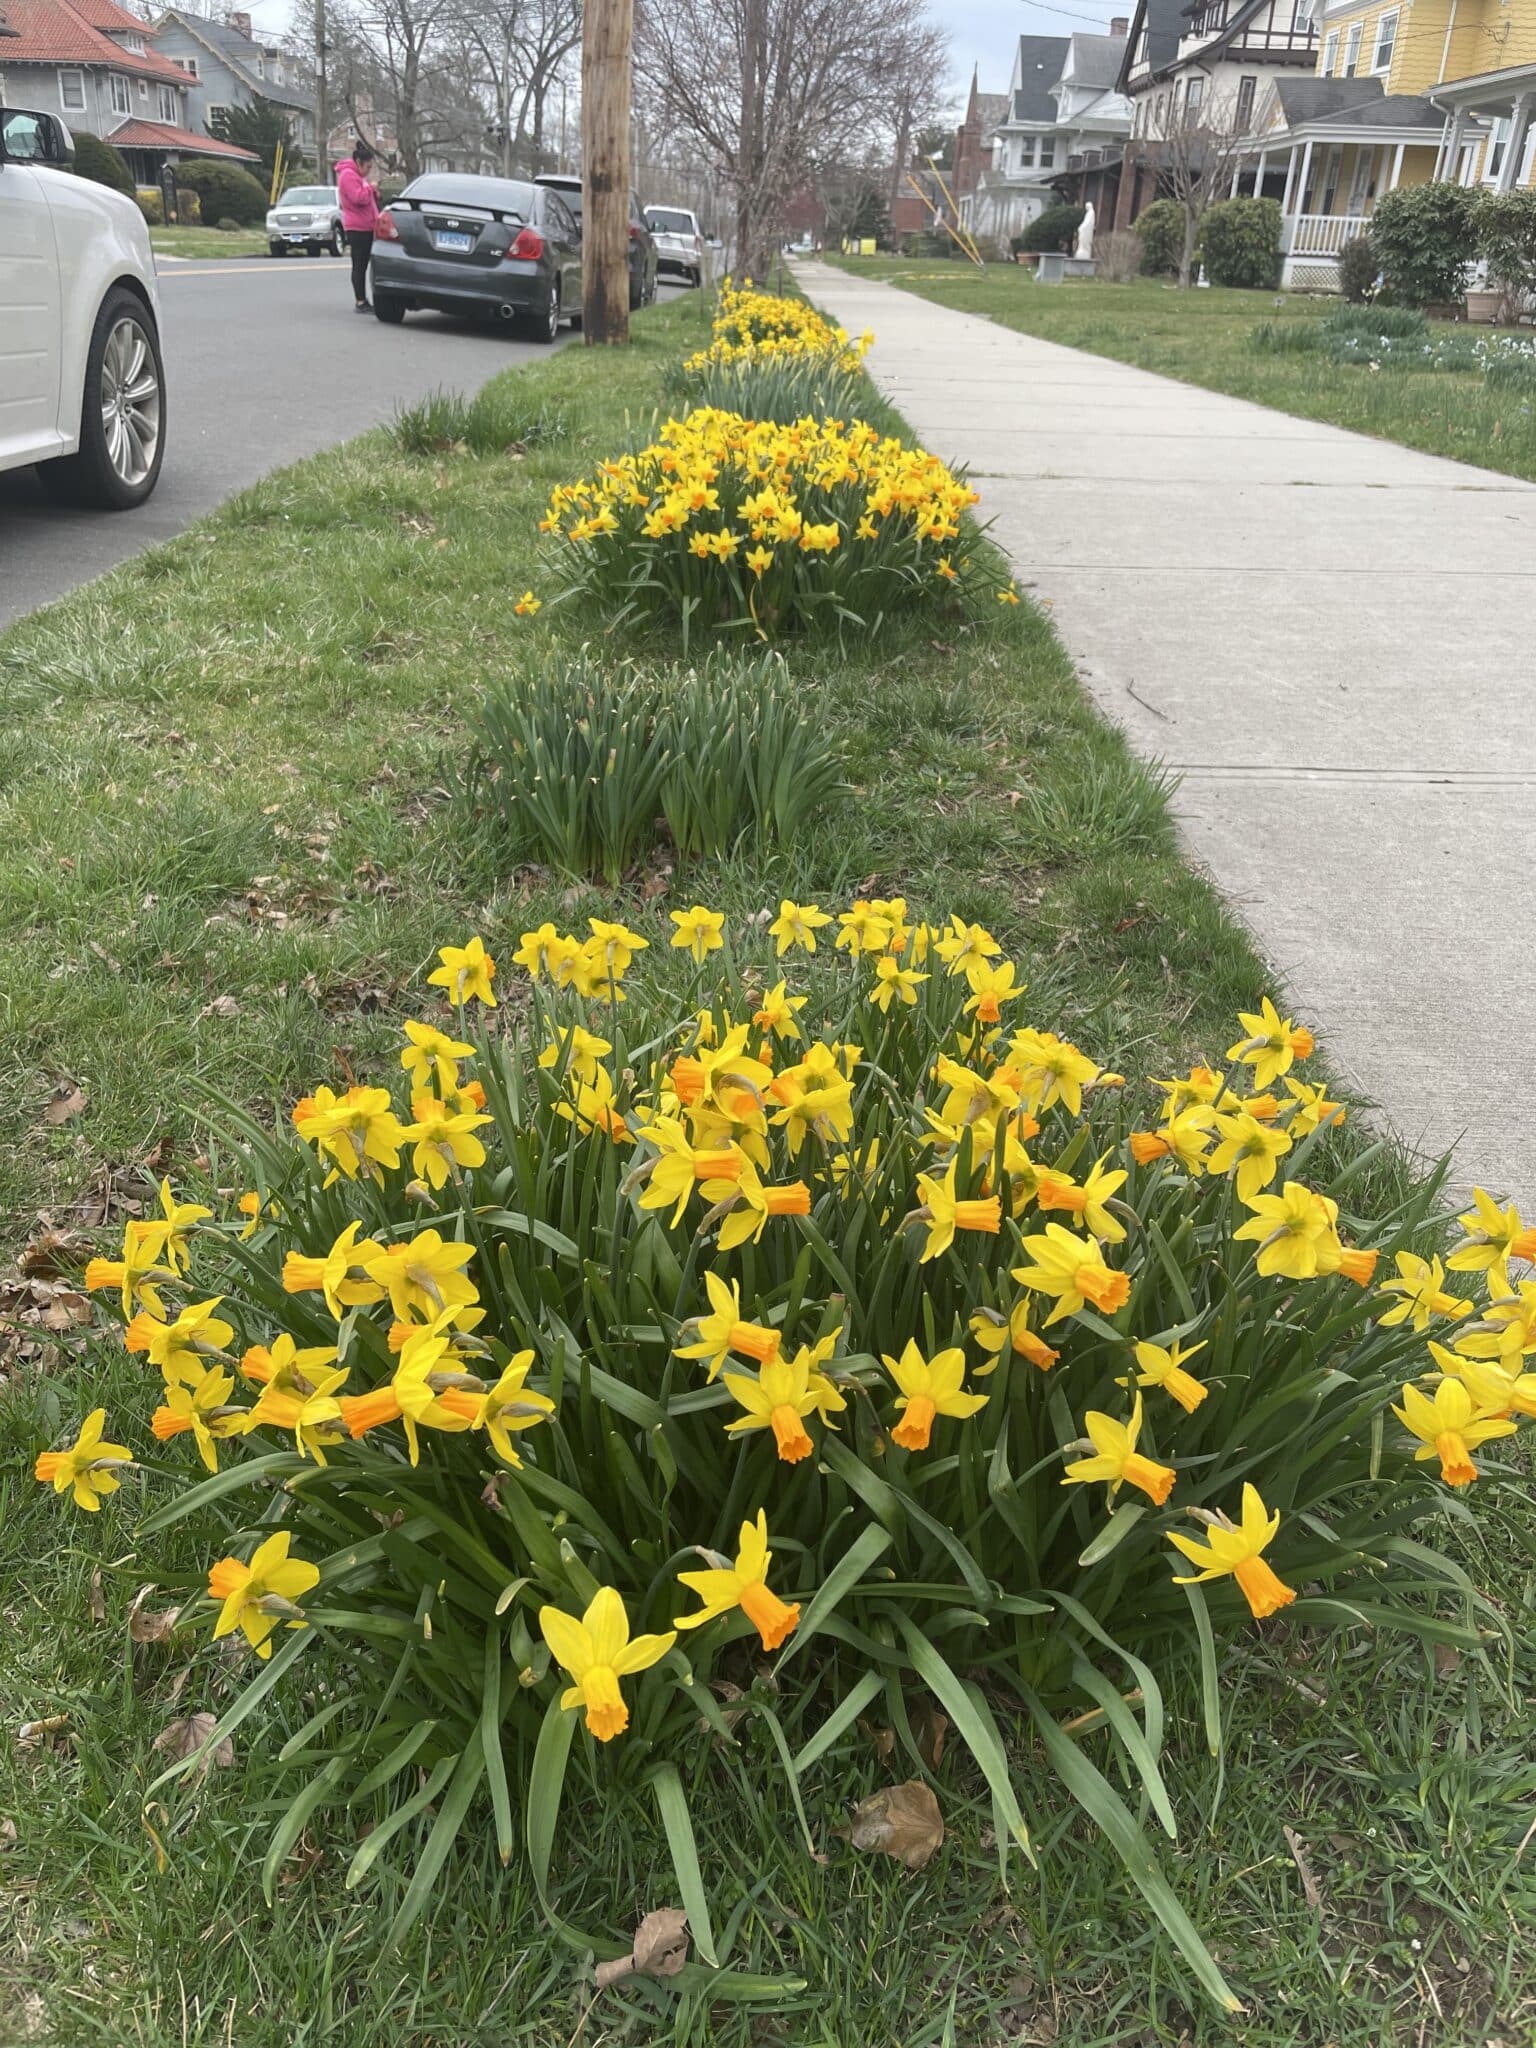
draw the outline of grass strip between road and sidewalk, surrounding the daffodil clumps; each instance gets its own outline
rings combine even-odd
[[[463,713],[512,662],[596,639],[553,596],[535,520],[657,406],[705,322],[657,307],[625,356],[565,350],[506,373],[567,432],[492,457],[408,457],[381,434],[283,471],[223,512],[0,637],[0,1204],[18,1249],[39,1212],[90,1229],[166,1163],[195,1174],[199,1090],[274,1114],[393,1057],[442,940],[610,913],[612,897],[506,870],[451,799]],[[944,453],[944,451],[938,451]],[[985,506],[983,506],[985,512]],[[1264,971],[1178,860],[1167,793],[1087,707],[1028,606],[877,645],[793,647],[850,750],[854,793],[809,842],[707,881],[651,868],[618,909],[659,934],[674,903],[731,920],[780,895],[905,891],[985,920],[1030,1004],[1147,1071],[1221,1049]],[[1325,1026],[1325,1020],[1319,1020]],[[76,1108],[76,1094],[82,1098]],[[55,1104],[49,1114],[49,1104]],[[61,1114],[68,1112],[68,1114]],[[92,1399],[129,1405],[119,1346],[35,1329],[0,1352],[0,2042],[406,2044],[582,2040],[698,2048],[1413,2042],[1507,2048],[1536,2025],[1520,1853],[1536,1765],[1534,1673],[1274,1624],[1231,1655],[1225,1778],[1198,1681],[1169,1702],[1165,1853],[1245,2013],[1214,2019],[1118,1860],[1065,1804],[1040,1872],[997,1880],[989,1802],[946,1759],[950,1833],[918,1876],[831,1829],[879,1763],[815,1784],[815,1855],[756,1755],[690,1759],[731,1962],[793,1987],[758,2009],[604,1993],[547,1933],[489,1841],[442,1905],[381,1952],[401,1880],[356,1892],[350,1843],[305,1837],[276,1905],[258,1882],[276,1751],[311,1700],[246,1726],[236,1767],[145,1808],[176,1714],[221,1704],[215,1659],[133,1645],[150,1563],[61,1520],[29,1464]],[[133,1397],[137,1403],[137,1395]],[[100,1518],[109,1522],[106,1516]],[[190,1556],[172,1548],[156,1565]],[[1530,1542],[1489,1522],[1468,1569],[1530,1642]],[[92,1585],[96,1567],[100,1579]],[[154,1606],[154,1602],[152,1602]],[[66,1733],[18,1741],[23,1720]],[[1034,1755],[1020,1737],[1018,1769]],[[6,1823],[14,1825],[6,1827]],[[571,1808],[561,1909],[631,1929],[666,1905],[666,1851],[633,1810]],[[580,1874],[584,1868],[584,1876]]]

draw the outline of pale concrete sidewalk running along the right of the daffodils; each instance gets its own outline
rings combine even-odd
[[[1182,776],[1339,1075],[1458,1190],[1536,1204],[1536,485],[797,276]]]

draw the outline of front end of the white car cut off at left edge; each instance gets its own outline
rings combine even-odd
[[[0,106],[0,469],[125,512],[166,453],[156,264],[137,205],[72,158],[57,115]]]

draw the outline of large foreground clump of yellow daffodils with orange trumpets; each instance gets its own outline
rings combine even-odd
[[[778,1757],[797,1798],[866,1753],[874,1702],[928,1776],[926,1694],[1004,1870],[1051,1784],[1233,2005],[1137,1812],[1176,1835],[1163,1686],[1198,1661],[1219,1755],[1221,1647],[1255,1618],[1509,1638],[1464,1544],[1421,1532],[1509,1470],[1536,1235],[1479,1196],[1446,1274],[1427,1188],[1348,1212],[1341,1112],[1268,1004],[1137,1128],[1063,1020],[1018,1022],[985,932],[901,899],[729,936],[700,905],[651,940],[543,926],[514,958],[494,1036],[494,963],[444,948],[455,1008],[408,1026],[393,1087],[348,1073],[293,1137],[227,1112],[240,1214],[166,1186],[86,1274],[164,1378],[121,1421],[166,1446],[154,1505],[109,1542],[154,1556],[188,1522],[180,1630],[262,1659],[203,1747],[311,1659],[268,1890],[305,1825],[365,1837],[348,1884],[410,1843],[399,1933],[483,1810],[547,1903],[567,1792],[655,1798],[713,1960],[678,1774],[700,1716],[733,1745],[713,1686],[764,1722],[741,1765]],[[37,1475],[117,1513],[139,1479],[102,1427]]]

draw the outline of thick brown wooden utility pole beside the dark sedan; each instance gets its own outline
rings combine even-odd
[[[586,0],[582,20],[582,330],[629,342],[629,57],[633,0]]]

